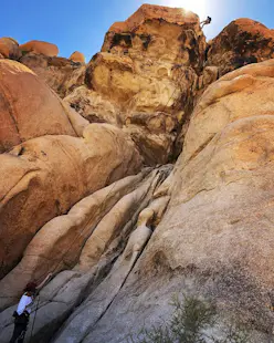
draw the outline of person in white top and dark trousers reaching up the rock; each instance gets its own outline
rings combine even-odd
[[[28,323],[31,313],[31,304],[33,303],[38,292],[44,287],[44,284],[51,279],[52,273],[38,285],[36,282],[29,282],[24,289],[24,293],[21,297],[17,311],[13,312],[14,316],[14,330],[10,343],[23,343],[24,335],[28,329]]]

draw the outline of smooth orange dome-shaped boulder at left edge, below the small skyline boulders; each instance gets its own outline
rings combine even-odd
[[[0,60],[0,153],[43,135],[76,136],[61,100],[25,65]]]

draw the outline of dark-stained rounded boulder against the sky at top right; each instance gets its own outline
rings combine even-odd
[[[232,21],[208,46],[207,65],[223,75],[240,66],[274,58],[274,31],[262,23],[241,18]]]

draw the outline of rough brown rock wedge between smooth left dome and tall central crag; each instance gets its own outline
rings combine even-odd
[[[54,92],[64,97],[84,83],[85,65],[72,60],[30,52],[20,62],[34,71]]]

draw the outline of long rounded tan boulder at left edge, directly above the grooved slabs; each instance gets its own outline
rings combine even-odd
[[[39,137],[0,155],[1,276],[18,262],[46,221],[139,170],[140,156],[119,128],[92,124],[83,136]]]

